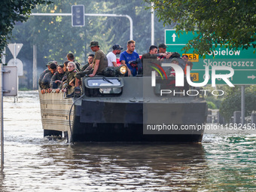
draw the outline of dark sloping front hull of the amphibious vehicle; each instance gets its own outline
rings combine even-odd
[[[161,117],[151,117],[159,114],[157,109]],[[202,111],[206,111],[203,102],[145,104],[83,100],[75,106],[72,139],[75,142],[201,142],[202,129],[181,128],[204,124]]]

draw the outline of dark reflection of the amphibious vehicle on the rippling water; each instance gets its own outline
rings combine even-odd
[[[202,145],[82,143],[59,147],[43,145],[38,155],[50,160],[48,166],[58,166],[54,175],[70,179],[81,191],[197,189],[204,178],[200,174],[205,167]]]

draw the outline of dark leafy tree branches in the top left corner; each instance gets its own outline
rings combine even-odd
[[[25,22],[33,8],[40,4],[50,4],[50,0],[2,0],[0,7],[0,53],[2,54],[11,31],[17,22]]]

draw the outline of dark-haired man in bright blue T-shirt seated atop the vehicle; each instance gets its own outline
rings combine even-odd
[[[133,61],[136,61],[136,59],[139,58],[139,54],[134,52],[135,50],[135,41],[130,40],[127,42],[127,50],[123,51],[123,53],[120,53],[120,63],[123,66],[127,66],[128,76],[137,75],[136,68],[133,68],[130,66],[130,63]]]

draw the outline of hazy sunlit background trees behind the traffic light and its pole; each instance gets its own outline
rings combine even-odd
[[[38,5],[33,13],[70,14],[72,5],[84,5],[86,14],[122,14],[133,19],[133,40],[139,54],[147,53],[151,46],[151,11],[145,10],[148,3],[142,0],[53,0],[50,5]],[[164,42],[163,22],[154,22],[155,44]],[[26,23],[16,25],[14,38],[9,43],[23,43],[18,58],[23,62],[25,84],[32,88],[33,45],[37,46],[38,75],[46,68],[50,60],[66,61],[66,54],[71,51],[75,59],[84,64],[90,50],[90,41],[99,41],[100,48],[108,53],[113,44],[120,44],[126,49],[130,40],[130,22],[126,17],[85,17],[85,26],[72,27],[72,17],[30,16]],[[7,49],[8,51],[8,49]],[[117,56],[118,57],[118,56]],[[10,53],[6,60],[12,59]],[[20,81],[21,84],[21,81]]]

